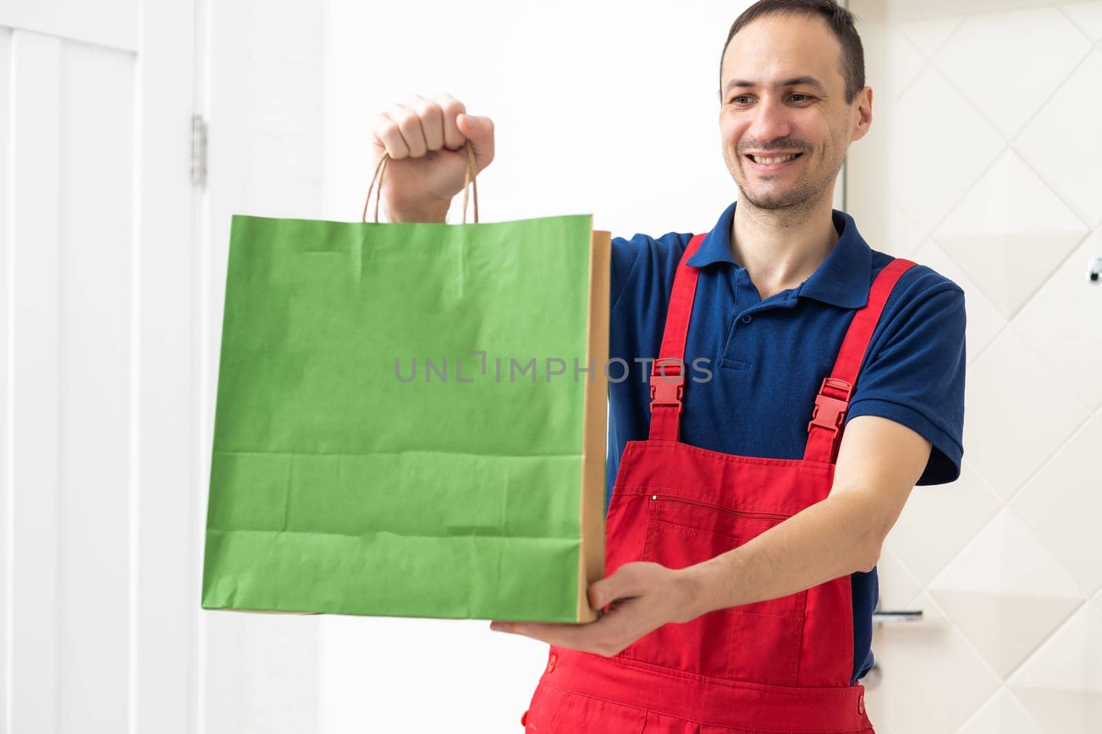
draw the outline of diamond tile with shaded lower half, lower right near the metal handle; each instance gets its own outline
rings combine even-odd
[[[1005,510],[946,567],[930,593],[1003,677],[1084,599],[1071,576]]]

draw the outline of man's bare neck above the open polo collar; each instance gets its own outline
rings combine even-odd
[[[763,300],[808,280],[839,240],[831,200],[761,209],[743,198],[731,226],[731,250]]]

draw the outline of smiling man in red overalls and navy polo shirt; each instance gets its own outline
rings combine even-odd
[[[915,484],[960,473],[963,293],[831,208],[872,123],[852,15],[755,3],[719,95],[738,199],[706,237],[614,239],[609,337],[628,363],[704,357],[713,376],[611,385],[605,613],[491,624],[551,645],[528,731],[872,732],[880,546]],[[374,132],[391,221],[443,221],[465,141],[493,160],[493,123],[446,96]]]

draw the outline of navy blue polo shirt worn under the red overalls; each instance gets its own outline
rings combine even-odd
[[[833,210],[839,241],[819,269],[795,288],[765,300],[731,251],[737,201],[724,210],[689,264],[700,267],[685,344],[689,365],[681,440],[724,453],[801,459],[808,420],[823,377],[830,375],[855,309],[892,255],[869,249],[853,218]],[[609,358],[629,366],[611,382],[608,487],[624,446],[650,427],[649,364],[662,339],[678,262],[691,233],[655,239],[614,238]],[[712,372],[694,372],[693,360]],[[618,380],[619,363],[609,374]],[[709,379],[706,383],[692,377]],[[873,333],[846,421],[877,415],[900,423],[933,445],[919,484],[960,475],[964,424],[964,293],[923,265],[899,278]],[[873,666],[872,614],[876,569],[852,576],[856,682]]]

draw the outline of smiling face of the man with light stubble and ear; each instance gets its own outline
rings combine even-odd
[[[845,101],[841,54],[827,23],[808,15],[759,18],[731,39],[720,138],[741,200],[761,209],[832,200],[850,141],[872,122],[872,89]]]

